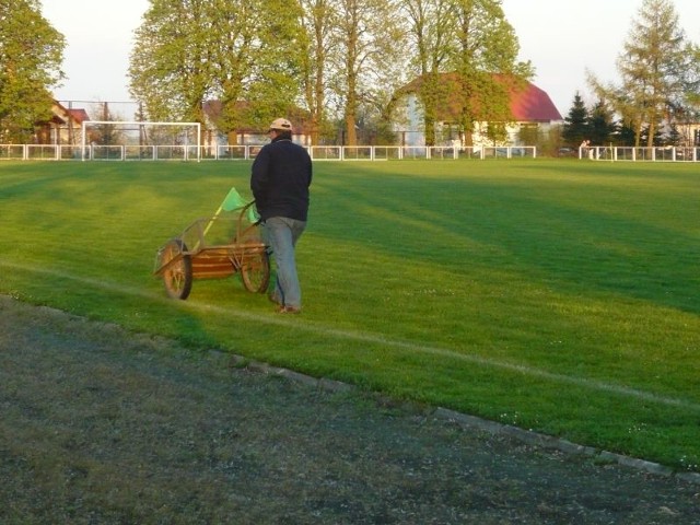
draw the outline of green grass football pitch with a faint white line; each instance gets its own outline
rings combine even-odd
[[[301,316],[156,249],[249,163],[0,163],[0,293],[700,470],[700,172],[315,164]]]

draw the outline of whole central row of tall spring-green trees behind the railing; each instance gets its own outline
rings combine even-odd
[[[224,132],[299,115],[318,143],[335,117],[354,144],[359,129],[388,140],[377,122],[389,119],[392,97],[411,75],[430,73],[420,96],[434,143],[439,74],[459,75],[470,133],[475,121],[511,120],[510,91],[532,75],[517,54],[497,0],[151,0],[131,92],[150,119],[203,122],[202,103],[217,100],[208,117]]]

